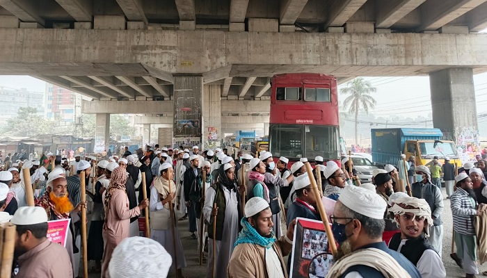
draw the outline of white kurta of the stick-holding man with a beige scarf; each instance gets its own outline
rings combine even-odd
[[[149,209],[150,211],[161,211],[163,209],[166,209],[163,207],[161,199],[159,198],[159,193],[157,193],[157,190],[154,187],[150,189]],[[173,265],[171,266],[171,268],[174,270],[174,265],[176,261],[174,254],[175,248],[173,245],[173,228],[167,230],[151,229],[150,238],[156,240],[158,243],[161,243],[164,249],[166,249],[166,251],[170,254],[170,256],[173,258]],[[179,232],[177,231],[177,227],[175,233],[175,243],[177,253],[177,268],[186,268],[186,258],[184,257],[184,251],[181,240],[179,239]]]

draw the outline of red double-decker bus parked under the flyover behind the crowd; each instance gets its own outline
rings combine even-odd
[[[290,161],[340,159],[337,79],[325,74],[278,74],[271,80],[269,151]]]

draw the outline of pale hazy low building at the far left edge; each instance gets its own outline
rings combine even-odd
[[[0,124],[6,124],[8,119],[17,116],[21,107],[37,108],[38,115],[44,116],[44,92],[0,87],[0,99]]]

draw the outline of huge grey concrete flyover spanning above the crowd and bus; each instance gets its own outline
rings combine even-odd
[[[456,113],[468,107],[457,101],[474,97],[465,79],[487,72],[484,28],[487,0],[0,0],[0,74],[35,76],[111,106],[154,101],[141,113],[147,121],[193,117],[200,136],[206,126],[265,122],[239,106],[225,113],[225,101],[269,106],[273,74],[321,72],[339,83],[429,75],[433,122],[456,137],[462,126],[477,129],[474,114]],[[160,104],[173,114],[159,115]],[[190,116],[180,110],[189,106]],[[131,113],[125,104],[115,111]],[[97,141],[108,142],[113,112],[95,112]]]

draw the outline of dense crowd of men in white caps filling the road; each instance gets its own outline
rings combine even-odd
[[[335,202],[328,216],[338,250],[333,258],[312,261],[318,277],[445,277],[436,172],[445,174],[451,201],[452,259],[466,277],[479,274],[475,220],[486,217],[478,207],[487,204],[485,161],[465,163],[454,176],[448,159],[429,167],[401,160],[398,167],[374,170],[372,183],[361,185],[354,182],[353,161],[340,162],[342,167],[314,158],[312,174],[321,179],[323,194],[317,196],[306,158],[289,167],[288,158],[270,152],[234,159],[226,149],[155,145],[134,154],[125,149],[108,160],[77,155],[69,161],[48,153],[40,161],[18,161],[0,172],[0,220],[17,225],[13,277],[77,277],[83,208],[90,210],[90,272],[102,277],[164,277],[169,271],[183,277],[188,251],[177,226],[186,220],[206,277],[289,277],[291,256],[287,263],[284,257],[292,252],[296,218],[321,220],[321,197]],[[22,169],[29,169],[35,207],[27,206]],[[81,202],[81,173],[89,204]],[[402,192],[399,179],[409,177]],[[144,208],[150,231],[139,231]],[[50,243],[47,221],[67,218],[72,225],[65,248]],[[150,238],[139,237],[141,232]],[[56,260],[49,259],[54,253]]]

